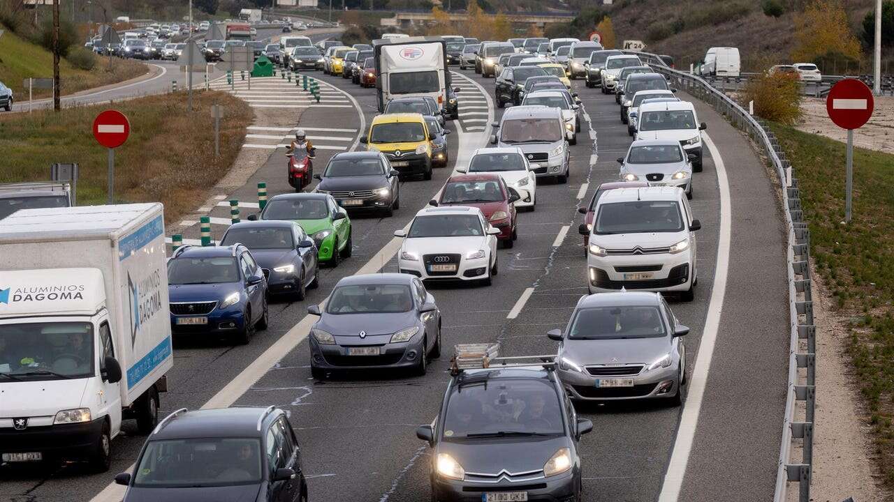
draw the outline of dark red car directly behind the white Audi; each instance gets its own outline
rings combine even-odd
[[[507,187],[499,174],[482,172],[451,176],[441,190],[441,196],[430,205],[470,205],[485,213],[487,222],[500,229],[498,241],[512,247],[519,238],[515,201],[519,192]]]

